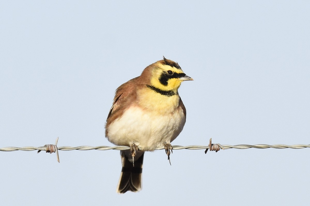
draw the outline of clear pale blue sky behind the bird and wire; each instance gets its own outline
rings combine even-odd
[[[0,148],[111,145],[115,89],[177,61],[172,145],[310,144],[309,1],[2,1]],[[310,150],[163,150],[118,195],[118,151],[0,152],[3,205],[307,205]],[[47,183],[50,186],[46,186]]]

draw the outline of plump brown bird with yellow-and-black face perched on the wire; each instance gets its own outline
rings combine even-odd
[[[177,62],[163,57],[116,89],[105,136],[115,145],[130,147],[121,150],[122,172],[117,193],[141,190],[144,152],[164,147],[170,162],[170,143],[186,121],[178,89],[188,80],[193,79]]]

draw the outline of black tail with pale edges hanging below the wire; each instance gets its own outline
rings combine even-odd
[[[122,157],[122,172],[117,185],[118,193],[125,193],[127,191],[138,192],[142,188],[142,166],[144,152],[137,153],[135,157],[135,166],[130,161],[131,155],[128,151],[121,151]],[[129,156],[129,157],[128,157]]]

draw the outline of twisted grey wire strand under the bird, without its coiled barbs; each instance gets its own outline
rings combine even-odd
[[[255,144],[255,145],[249,145],[249,144],[238,144],[238,145],[226,145],[223,144],[224,149],[248,149],[248,148],[258,148],[258,149],[266,149],[266,148],[276,148],[276,149],[285,149],[285,148],[292,148],[292,149],[302,149],[302,148],[310,148],[310,144],[294,144],[294,145],[286,145],[286,144]],[[208,146],[203,146],[203,145],[189,145],[189,146],[179,146],[179,145],[174,145],[172,146],[174,150],[178,149],[192,149],[192,150],[197,150],[197,149],[207,149],[209,148]],[[58,150],[63,150],[63,151],[71,151],[71,150],[126,150],[130,149],[130,147],[127,146],[79,146],[79,147],[69,147],[69,146],[63,146],[63,147],[58,147]],[[164,147],[159,147],[156,150],[162,150]],[[22,151],[34,151],[34,150],[43,150],[47,151],[47,147],[3,147],[0,148],[0,151],[5,151],[5,152],[10,152],[10,151],[16,151],[16,150],[22,150]]]

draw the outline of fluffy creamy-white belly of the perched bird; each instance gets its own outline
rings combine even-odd
[[[108,140],[116,145],[135,143],[143,151],[153,151],[172,142],[182,131],[185,116],[182,109],[170,114],[157,114],[139,107],[127,109],[121,118],[107,128]]]

